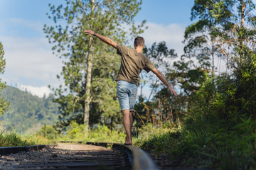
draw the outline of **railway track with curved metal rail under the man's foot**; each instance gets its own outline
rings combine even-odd
[[[0,154],[6,157],[2,156],[0,163],[7,159],[11,161],[4,162],[0,169],[157,169],[154,162],[138,147],[102,142],[78,145],[85,149],[62,149],[56,145],[2,147]]]

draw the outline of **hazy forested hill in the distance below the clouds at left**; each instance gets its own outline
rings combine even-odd
[[[12,86],[6,86],[1,94],[10,101],[9,111],[0,118],[0,125],[7,130],[33,133],[58,120],[58,104],[53,103],[53,96],[39,98]]]

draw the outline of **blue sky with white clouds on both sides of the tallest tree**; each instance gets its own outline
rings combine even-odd
[[[0,41],[4,45],[6,72],[1,78],[7,84],[20,84],[33,94],[49,93],[47,86],[61,82],[56,74],[62,62],[52,54],[43,33],[43,25],[50,25],[46,13],[48,4],[65,3],[64,0],[0,0]],[[191,24],[193,0],[144,0],[135,21],[146,19],[146,45],[166,41],[178,55],[183,51],[183,32]]]

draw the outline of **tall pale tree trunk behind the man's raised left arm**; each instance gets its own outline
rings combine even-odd
[[[95,9],[95,0],[91,0],[91,3],[92,3],[92,13],[93,13]],[[90,96],[91,82],[92,82],[92,37],[89,38],[89,52],[87,57],[87,75],[86,75],[86,85],[85,85],[86,90],[85,90],[84,124],[86,125],[86,130],[89,129],[90,102],[92,101],[92,98]]]

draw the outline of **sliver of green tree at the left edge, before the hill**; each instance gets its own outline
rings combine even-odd
[[[6,61],[4,59],[4,47],[2,43],[0,42],[0,74],[4,74]],[[6,86],[6,83],[0,79],[0,91],[1,89],[4,89]],[[8,110],[9,102],[6,101],[6,99],[0,95],[0,117],[1,115]]]

